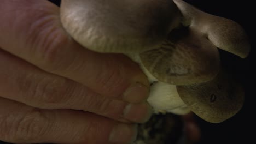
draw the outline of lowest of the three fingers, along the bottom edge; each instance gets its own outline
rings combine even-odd
[[[40,110],[0,98],[0,139],[12,143],[127,143],[135,125],[92,113]]]

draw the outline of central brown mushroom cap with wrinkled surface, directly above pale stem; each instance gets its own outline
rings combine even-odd
[[[172,31],[159,49],[142,52],[140,57],[156,79],[172,85],[210,81],[219,71],[217,47],[185,27]]]

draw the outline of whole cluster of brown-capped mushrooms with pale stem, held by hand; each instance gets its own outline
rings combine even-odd
[[[218,53],[248,55],[247,35],[234,21],[182,0],[62,0],[61,22],[87,49],[137,62],[151,83],[155,113],[193,111],[219,123],[243,105],[243,89],[221,68]]]

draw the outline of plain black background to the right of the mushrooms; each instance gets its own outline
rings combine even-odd
[[[73,0],[75,1],[75,0]],[[107,1],[107,0],[106,0]],[[121,0],[120,0],[121,1]],[[139,1],[139,0],[131,0]],[[157,0],[155,0],[157,1]],[[60,1],[53,0],[56,4]],[[253,1],[217,1],[217,0],[187,0],[195,7],[217,16],[226,17],[238,22],[249,35],[251,53],[241,59],[228,52],[220,50],[222,65],[228,69],[245,88],[246,100],[241,111],[234,117],[219,124],[203,121],[195,116],[202,131],[202,139],[198,144],[211,143],[254,143],[255,140],[255,39],[254,39],[254,13],[256,7]],[[0,142],[1,143],[1,142]]]

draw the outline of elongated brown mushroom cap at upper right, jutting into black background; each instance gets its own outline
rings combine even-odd
[[[182,24],[200,32],[219,49],[241,58],[248,56],[250,44],[247,34],[238,23],[204,13],[182,0],[173,0],[183,15]]]

